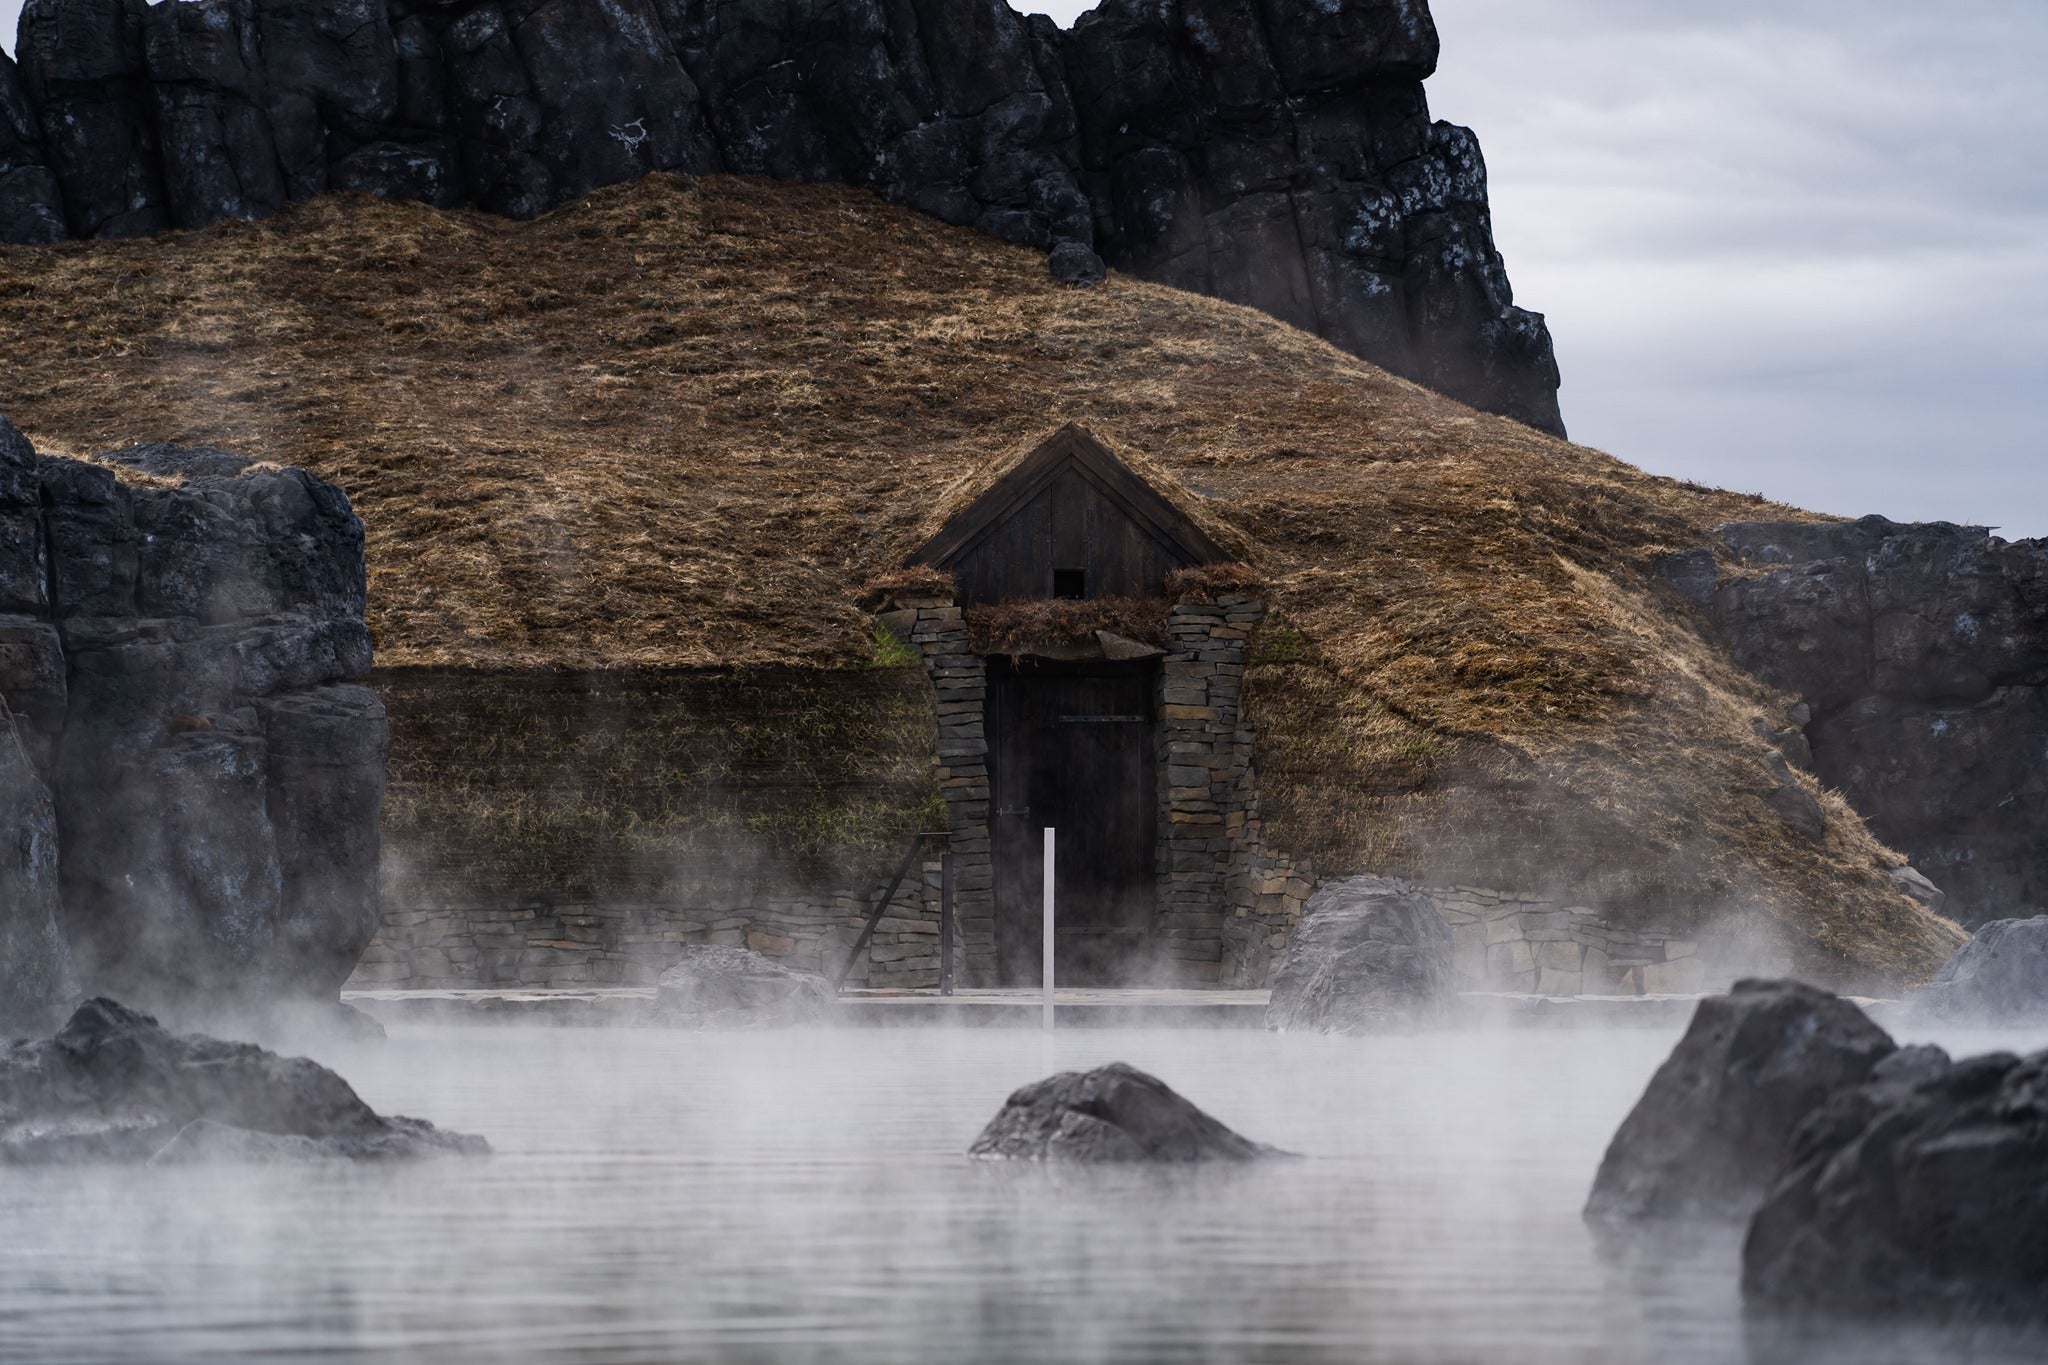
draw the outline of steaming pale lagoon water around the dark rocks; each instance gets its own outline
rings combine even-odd
[[[1733,1238],[1597,1246],[1675,1036],[393,1027],[319,1060],[494,1158],[0,1169],[0,1361],[2038,1359],[1745,1326]],[[1016,1085],[1116,1058],[1303,1158],[963,1156]]]

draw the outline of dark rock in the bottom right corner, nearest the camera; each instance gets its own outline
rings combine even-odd
[[[1749,1226],[1743,1295],[2048,1322],[2048,1052],[1907,1048],[1835,1095]]]

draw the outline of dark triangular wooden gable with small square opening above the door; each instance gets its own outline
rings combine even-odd
[[[956,600],[1147,598],[1174,569],[1229,559],[1151,483],[1077,426],[1006,473],[911,555]]]

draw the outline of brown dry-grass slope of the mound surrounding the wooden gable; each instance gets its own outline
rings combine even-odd
[[[858,190],[651,178],[530,223],[324,199],[10,248],[0,352],[0,409],[43,448],[207,442],[346,487],[385,667],[866,665],[856,589],[1079,422],[1268,583],[1268,843],[1741,925],[1847,984],[1960,941],[1784,776],[1757,720],[1790,698],[1653,573],[1796,512],[1243,307],[1055,284]],[[1782,814],[1788,782],[1825,829]]]

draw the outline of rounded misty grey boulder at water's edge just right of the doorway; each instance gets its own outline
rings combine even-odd
[[[1270,1029],[1356,1033],[1438,1021],[1456,1007],[1452,937],[1436,902],[1378,876],[1331,882],[1303,907],[1274,972]]]

